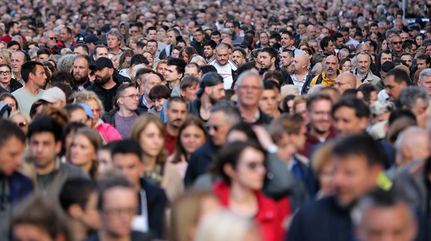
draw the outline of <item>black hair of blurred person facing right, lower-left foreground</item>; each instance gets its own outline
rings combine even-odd
[[[96,189],[97,184],[92,180],[85,178],[69,179],[63,184],[60,191],[60,205],[66,213],[68,213],[72,204],[77,204],[82,209],[85,209],[90,194],[95,192]]]

